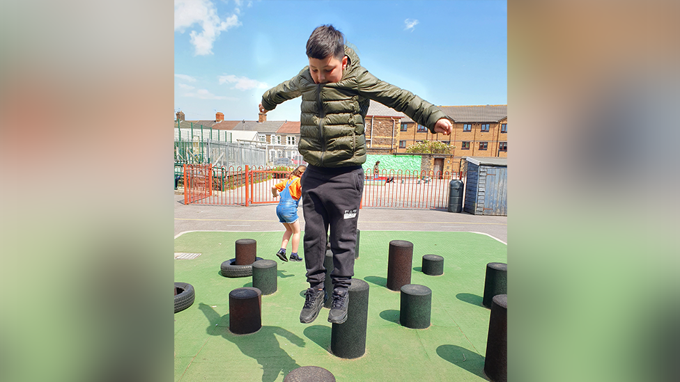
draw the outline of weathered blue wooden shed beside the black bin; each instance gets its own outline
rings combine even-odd
[[[508,159],[467,157],[464,212],[508,215]]]

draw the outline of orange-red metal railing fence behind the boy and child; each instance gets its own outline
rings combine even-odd
[[[291,168],[291,171],[293,168]],[[276,203],[272,186],[290,171],[269,168],[224,168],[185,164],[185,204],[244,205]],[[383,170],[366,175],[361,207],[446,209],[449,182],[455,173]],[[389,181],[389,182],[388,182]],[[212,184],[212,187],[208,185]]]

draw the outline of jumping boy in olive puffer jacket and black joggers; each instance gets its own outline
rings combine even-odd
[[[326,234],[330,226],[333,253],[332,306],[328,321],[347,319],[348,287],[354,276],[357,218],[364,190],[366,137],[364,118],[369,100],[401,111],[433,133],[451,134],[443,111],[422,98],[373,77],[359,57],[345,46],[343,34],[331,25],[314,29],[307,40],[309,66],[292,79],[267,90],[261,113],[302,96],[298,151],[307,161],[302,175],[304,263],[309,289],[300,322],[318,316],[327,297],[324,290]]]

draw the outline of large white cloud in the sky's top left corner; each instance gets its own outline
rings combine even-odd
[[[203,31],[189,33],[196,56],[212,54],[212,44],[223,31],[241,25],[237,15],[225,17],[217,15],[217,7],[209,0],[175,0],[175,31],[184,33],[185,29],[199,24]]]

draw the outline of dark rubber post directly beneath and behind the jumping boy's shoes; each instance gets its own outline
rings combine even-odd
[[[366,352],[366,319],[369,317],[369,284],[353,278],[349,289],[347,321],[333,324],[330,349],[339,358],[359,358]]]

